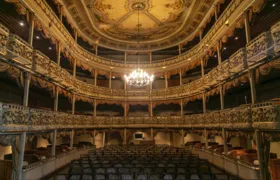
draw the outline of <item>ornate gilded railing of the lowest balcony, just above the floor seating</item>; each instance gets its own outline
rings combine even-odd
[[[165,117],[93,117],[0,103],[0,125],[3,131],[113,127],[280,129],[280,101]]]

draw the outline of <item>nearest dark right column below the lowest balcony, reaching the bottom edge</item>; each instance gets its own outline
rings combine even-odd
[[[258,159],[259,159],[259,170],[260,170],[260,180],[266,180],[265,178],[265,167],[264,167],[264,157],[263,157],[263,148],[261,143],[261,132],[260,130],[255,130],[255,136],[256,136],[256,148],[258,153]]]

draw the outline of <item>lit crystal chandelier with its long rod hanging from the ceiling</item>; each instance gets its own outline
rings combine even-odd
[[[139,10],[143,9],[143,3],[135,3],[133,6],[134,9],[138,10],[138,36],[137,36],[137,47],[139,47],[140,41],[140,20],[139,20]],[[128,85],[135,87],[143,87],[150,84],[154,80],[154,75],[149,75],[143,69],[140,69],[139,66],[139,53],[137,53],[137,67],[134,69],[128,76],[124,75],[125,81]]]

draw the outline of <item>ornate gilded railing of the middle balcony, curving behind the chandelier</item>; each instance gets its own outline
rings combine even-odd
[[[40,74],[47,79],[55,81],[65,89],[71,90],[76,94],[84,95],[89,98],[148,101],[179,99],[190,97],[195,94],[201,94],[207,91],[209,87],[217,86],[219,83],[230,79],[233,75],[244,73],[244,70],[251,67],[261,65],[264,59],[279,55],[280,28],[278,22],[272,27],[271,31],[265,32],[252,40],[246,48],[238,50],[229,60],[225,60],[222,64],[211,70],[208,74],[191,83],[182,86],[170,87],[167,89],[151,90],[125,90],[109,89],[87,84],[77,80],[66,70],[62,69],[55,62],[51,61],[47,56],[37,50],[32,50],[26,42],[16,35],[4,33],[1,38],[2,46],[6,46],[8,53],[5,56],[9,60],[13,60],[16,64],[30,69],[33,73]],[[0,26],[0,32],[7,30]],[[272,33],[272,34],[271,34]],[[1,34],[3,36],[3,34]],[[272,38],[271,38],[272,36]],[[6,44],[6,39],[8,43]],[[273,50],[277,50],[274,52]],[[247,67],[248,66],[248,67]]]

